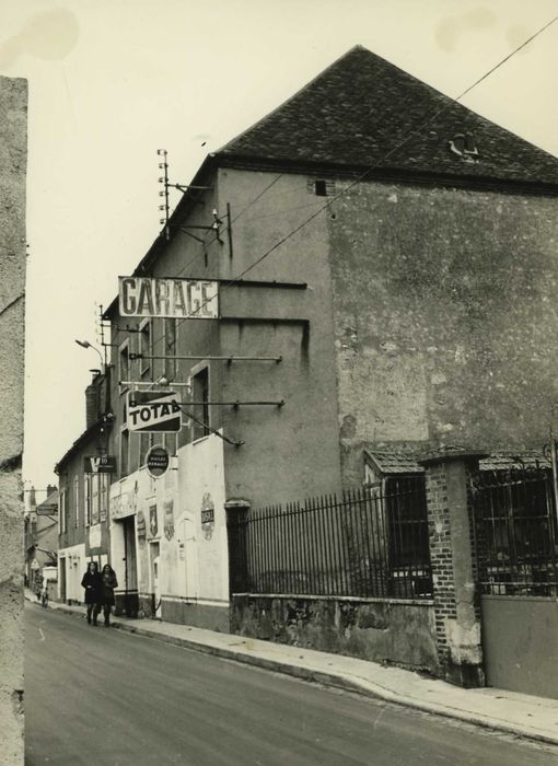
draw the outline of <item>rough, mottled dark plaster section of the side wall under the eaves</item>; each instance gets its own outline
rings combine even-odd
[[[334,202],[346,484],[363,444],[542,446],[558,393],[557,205],[380,183]]]

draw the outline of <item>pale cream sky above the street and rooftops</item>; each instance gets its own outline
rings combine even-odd
[[[0,74],[28,80],[23,475],[85,427],[95,312],[160,224],[156,149],[205,156],[360,44],[457,96],[558,15],[558,0],[2,0]],[[558,156],[558,22],[463,100]],[[178,201],[178,193],[172,198]]]

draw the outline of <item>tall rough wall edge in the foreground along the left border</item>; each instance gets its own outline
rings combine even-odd
[[[27,84],[0,78],[0,759],[23,764],[23,349]]]

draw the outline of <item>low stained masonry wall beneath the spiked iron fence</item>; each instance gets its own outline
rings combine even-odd
[[[231,632],[438,674],[431,601],[237,594]]]

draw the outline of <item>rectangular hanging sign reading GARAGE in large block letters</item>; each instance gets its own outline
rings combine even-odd
[[[209,279],[118,277],[120,316],[217,320],[218,282]]]

